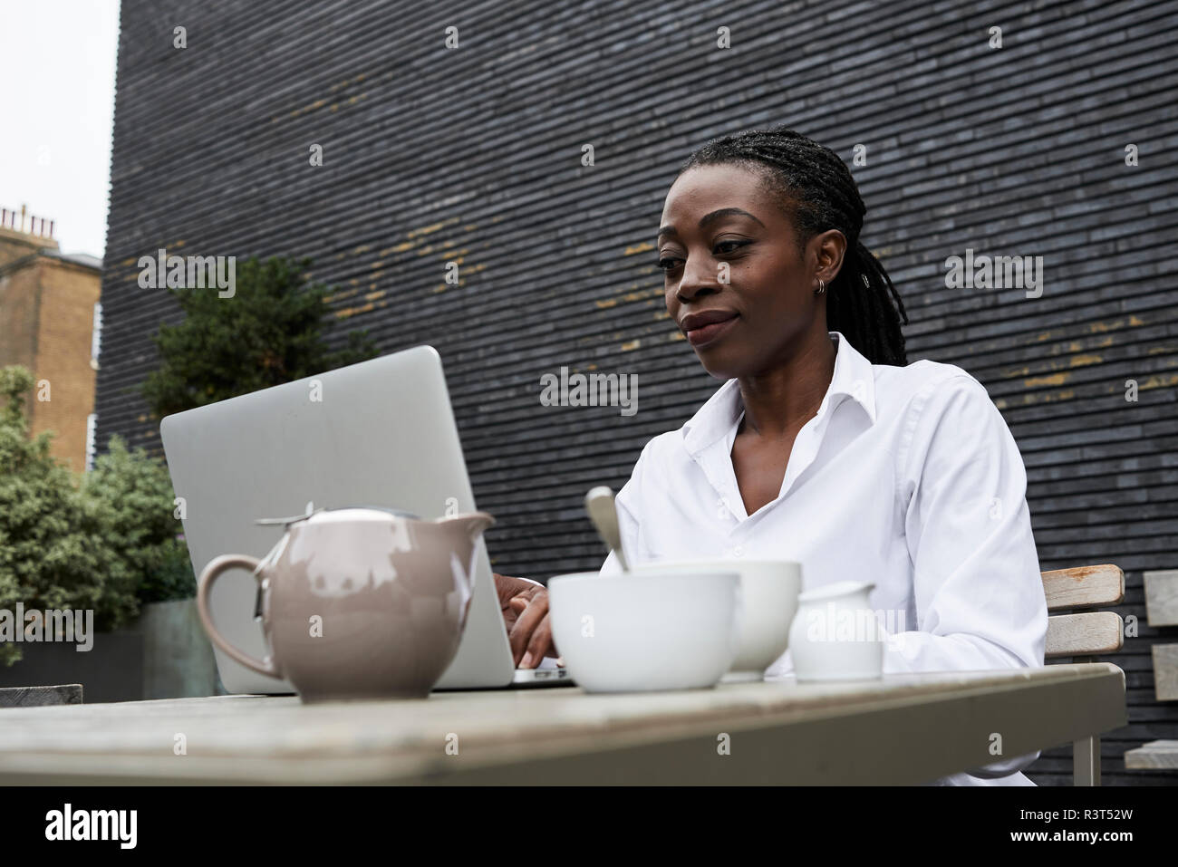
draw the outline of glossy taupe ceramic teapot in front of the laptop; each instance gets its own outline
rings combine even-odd
[[[305,702],[424,697],[458,650],[485,512],[423,521],[382,508],[320,509],[285,523],[263,560],[227,554],[205,567],[197,610],[209,637],[243,666],[285,677]],[[257,660],[213,626],[209,595],[227,569],[258,581],[270,654]]]

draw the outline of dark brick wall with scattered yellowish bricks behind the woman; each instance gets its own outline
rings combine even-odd
[[[1173,783],[1121,756],[1178,737],[1149,650],[1176,635],[1145,624],[1140,578],[1178,561],[1174,4],[124,0],[121,14],[99,443],[158,445],[134,390],[178,311],[135,285],[139,256],[309,254],[343,326],[383,352],[442,353],[476,497],[501,519],[496,568],[596,568],[581,496],[620,488],[719,384],[675,339],[654,264],[675,167],[709,137],[779,121],[848,164],[865,144],[862,237],[905,297],[909,358],[964,366],[1002,410],[1043,569],[1127,574],[1119,610],[1143,628],[1117,657],[1131,723],[1104,740],[1105,782]],[[946,289],[966,247],[1043,256],[1043,297]],[[637,415],[541,406],[541,375],[565,364],[638,373]],[[1068,782],[1066,755],[1034,779]]]

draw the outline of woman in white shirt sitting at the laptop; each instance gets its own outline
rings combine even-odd
[[[642,450],[617,495],[623,545],[636,562],[795,560],[806,588],[871,580],[888,673],[1041,666],[1023,458],[969,373],[908,364],[865,212],[839,155],[789,130],[683,166],[659,230],[667,311],[727,382]],[[547,591],[496,583],[517,664],[555,656]],[[766,677],[790,671],[787,651]],[[1032,785],[1018,772],[1037,756],[939,782]]]

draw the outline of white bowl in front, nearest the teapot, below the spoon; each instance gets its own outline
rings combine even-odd
[[[558,575],[548,582],[552,640],[588,693],[713,687],[740,637],[735,570]]]

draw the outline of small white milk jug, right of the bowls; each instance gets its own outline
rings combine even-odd
[[[855,681],[884,675],[885,631],[871,608],[869,581],[840,581],[798,597],[789,651],[799,681]]]

